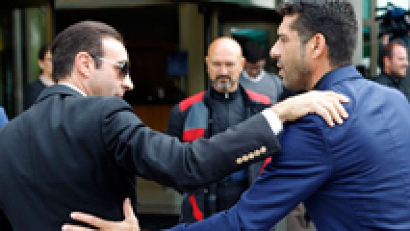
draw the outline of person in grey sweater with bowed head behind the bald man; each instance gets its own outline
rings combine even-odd
[[[266,72],[263,48],[254,41],[247,41],[243,46],[245,66],[240,74],[239,82],[245,88],[267,95],[271,103],[279,101],[282,93],[282,80],[275,74]]]

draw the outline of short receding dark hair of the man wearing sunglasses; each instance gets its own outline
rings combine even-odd
[[[71,74],[74,58],[79,52],[87,52],[94,56],[104,56],[103,38],[114,38],[124,43],[122,36],[107,24],[86,20],[69,26],[61,31],[52,44],[53,80]],[[96,67],[100,62],[96,60]]]

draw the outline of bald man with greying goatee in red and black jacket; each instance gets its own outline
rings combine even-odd
[[[183,142],[226,131],[271,104],[268,96],[240,86],[244,58],[234,39],[221,37],[212,41],[205,60],[210,87],[176,104],[168,120],[167,134]],[[259,175],[262,163],[184,194],[180,222],[194,223],[230,208]]]

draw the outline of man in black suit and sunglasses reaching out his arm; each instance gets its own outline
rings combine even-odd
[[[122,201],[135,205],[135,175],[192,190],[277,153],[281,121],[318,111],[341,122],[345,113],[344,97],[312,93],[212,139],[181,143],[146,127],[120,98],[133,85],[114,28],[72,25],[52,53],[58,84],[0,130],[1,230],[57,230],[74,209],[121,220]]]

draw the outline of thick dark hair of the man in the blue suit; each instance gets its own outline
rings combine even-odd
[[[305,44],[316,33],[322,34],[334,66],[351,65],[357,40],[354,8],[346,0],[294,0],[279,6],[281,15],[296,14],[291,25]]]

